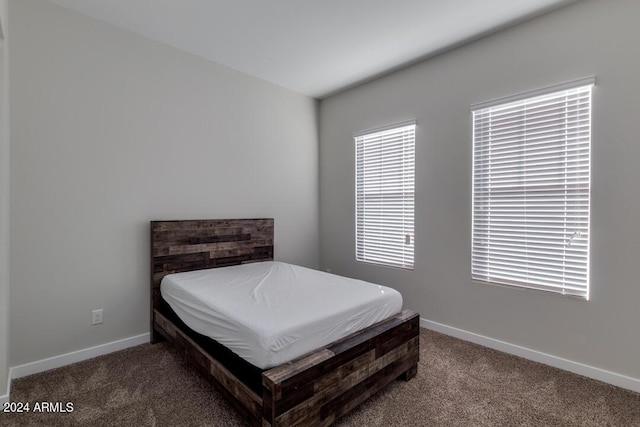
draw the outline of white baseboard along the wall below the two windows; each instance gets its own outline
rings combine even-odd
[[[599,380],[640,393],[640,379],[637,378],[616,374],[615,372],[605,371],[604,369],[584,365],[572,360],[563,359],[561,357],[542,353],[536,350],[531,350],[526,347],[521,347],[519,345],[510,344],[505,341],[485,337],[483,335],[465,331],[463,329],[454,328],[453,326],[444,325],[442,323],[433,322],[431,320],[423,318],[420,318],[420,326],[426,329],[440,332],[445,335],[451,335],[452,337],[460,338],[461,340],[470,341],[472,343],[480,344],[494,350],[502,351],[503,353],[513,354],[515,356],[533,360],[534,362],[553,366],[554,368],[573,372],[574,374],[593,378],[595,380]]]

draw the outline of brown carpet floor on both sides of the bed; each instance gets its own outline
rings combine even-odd
[[[640,426],[640,394],[421,330],[418,375],[338,426]],[[166,344],[141,345],[13,383],[14,402],[63,414],[0,414],[2,426],[244,426]]]

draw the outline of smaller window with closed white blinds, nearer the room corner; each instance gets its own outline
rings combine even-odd
[[[358,261],[413,269],[415,128],[354,134]]]

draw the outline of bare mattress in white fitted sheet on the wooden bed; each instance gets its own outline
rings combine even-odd
[[[160,289],[187,326],[262,369],[402,308],[394,289],[273,261],[170,274]]]

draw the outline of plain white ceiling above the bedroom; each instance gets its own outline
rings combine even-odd
[[[577,0],[48,0],[322,98]]]

